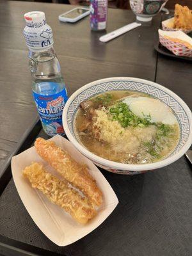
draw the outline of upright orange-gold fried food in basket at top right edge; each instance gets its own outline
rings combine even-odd
[[[174,28],[192,30],[192,11],[188,6],[175,4]]]

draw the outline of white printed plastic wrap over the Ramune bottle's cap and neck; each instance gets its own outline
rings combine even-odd
[[[44,12],[28,12],[24,14],[26,27],[24,37],[31,51],[46,51],[52,47],[52,29],[46,23]]]

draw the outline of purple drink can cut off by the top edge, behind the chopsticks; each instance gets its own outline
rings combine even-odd
[[[108,0],[90,0],[90,25],[94,31],[107,26]]]

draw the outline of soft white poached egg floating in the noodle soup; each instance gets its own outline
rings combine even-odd
[[[170,125],[177,123],[172,109],[160,100],[148,97],[126,97],[123,102],[129,106],[134,115],[140,118],[150,115],[152,123],[162,122]]]

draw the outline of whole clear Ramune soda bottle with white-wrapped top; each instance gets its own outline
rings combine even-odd
[[[24,18],[32,92],[42,126],[49,136],[64,135],[62,112],[68,97],[53,48],[52,29],[46,23],[44,12],[28,12]]]

